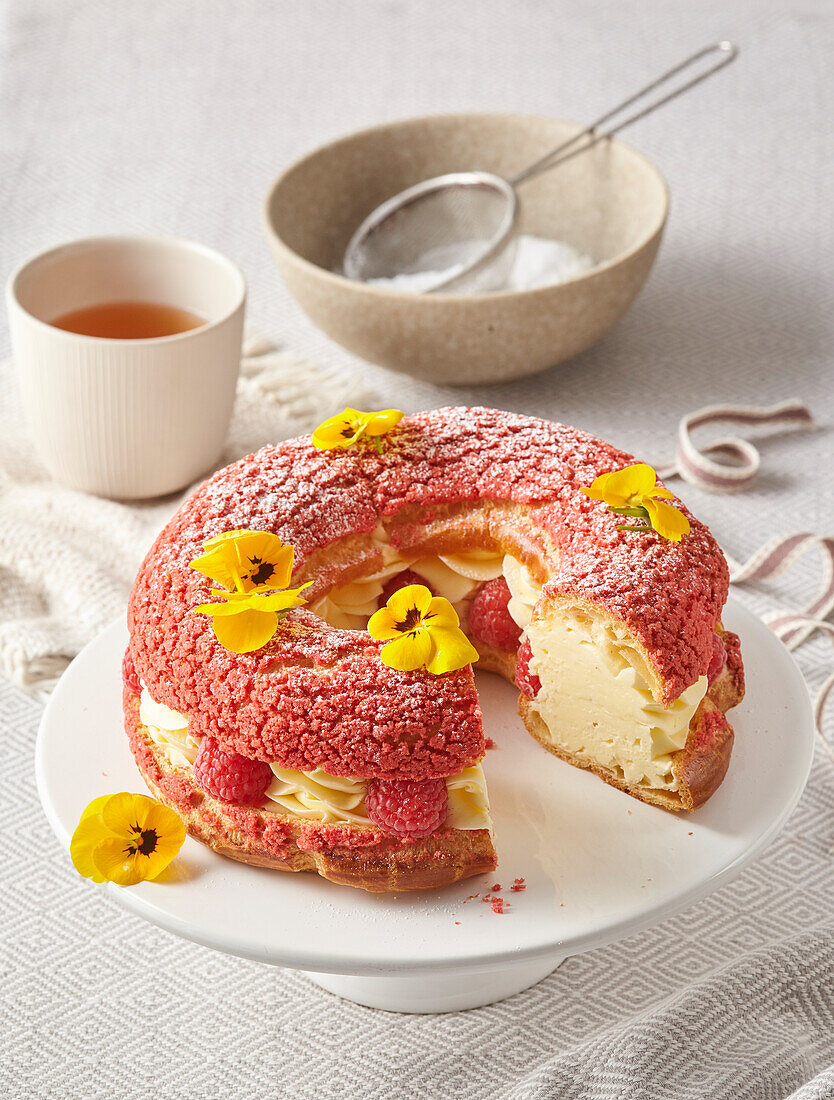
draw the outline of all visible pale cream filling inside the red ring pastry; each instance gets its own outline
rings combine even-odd
[[[610,768],[628,783],[676,791],[672,755],[683,748],[689,725],[706,694],[706,676],[663,706],[651,693],[644,660],[624,626],[595,619],[581,608],[542,608],[541,585],[527,566],[509,554],[471,550],[457,554],[404,557],[380,525],[373,536],[382,565],[369,576],[331,590],[310,610],[331,626],[364,630],[377,609],[389,578],[413,569],[460,613],[480,585],[504,576],[508,610],[530,642],[530,671],[541,681],[533,710],[555,744]],[[199,743],[188,734],[188,719],[151,698],[143,689],[140,717],[171,763],[188,768]],[[330,776],[320,769],[295,771],[272,765],[266,798],[287,813],[325,823],[370,824],[365,809],[367,781]],[[447,779],[447,825],[489,828],[486,781],[474,765]]]

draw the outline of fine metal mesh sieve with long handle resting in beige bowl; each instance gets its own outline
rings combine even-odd
[[[407,275],[409,289],[424,294],[492,289],[507,266],[507,244],[518,217],[516,187],[613,138],[724,68],[737,54],[729,42],[699,50],[509,179],[491,172],[452,172],[408,187],[376,207],[353,233],[344,252],[344,274],[363,283]],[[718,59],[706,69],[597,132],[626,108],[714,55]]]

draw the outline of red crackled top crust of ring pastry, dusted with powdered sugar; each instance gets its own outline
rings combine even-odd
[[[373,448],[321,452],[309,437],[263,448],[220,471],[185,503],[140,570],[129,626],[136,669],[160,702],[229,750],[336,776],[443,777],[483,756],[471,671],[435,678],[387,669],[378,645],[290,613],[250,654],[216,640],[209,582],[188,568],[204,542],[235,528],[271,530],[296,565],[380,517],[419,506],[504,501],[558,548],[546,595],[593,601],[646,646],[671,700],[706,670],[727,594],[724,557],[706,528],[680,543],[619,532],[618,517],[580,492],[634,461],[575,428],[486,408],[406,418]],[[396,531],[392,532],[395,540]],[[400,532],[402,537],[402,532]]]

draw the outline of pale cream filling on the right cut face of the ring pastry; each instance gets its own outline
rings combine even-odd
[[[527,627],[530,671],[541,681],[531,708],[555,744],[610,768],[628,783],[678,790],[672,754],[706,694],[701,676],[673,703],[658,703],[624,626],[572,608],[544,609]]]

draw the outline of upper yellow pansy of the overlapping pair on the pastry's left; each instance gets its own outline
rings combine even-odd
[[[206,552],[195,558],[190,569],[230,591],[285,588],[293,575],[293,548],[272,531],[226,531],[202,549]]]

